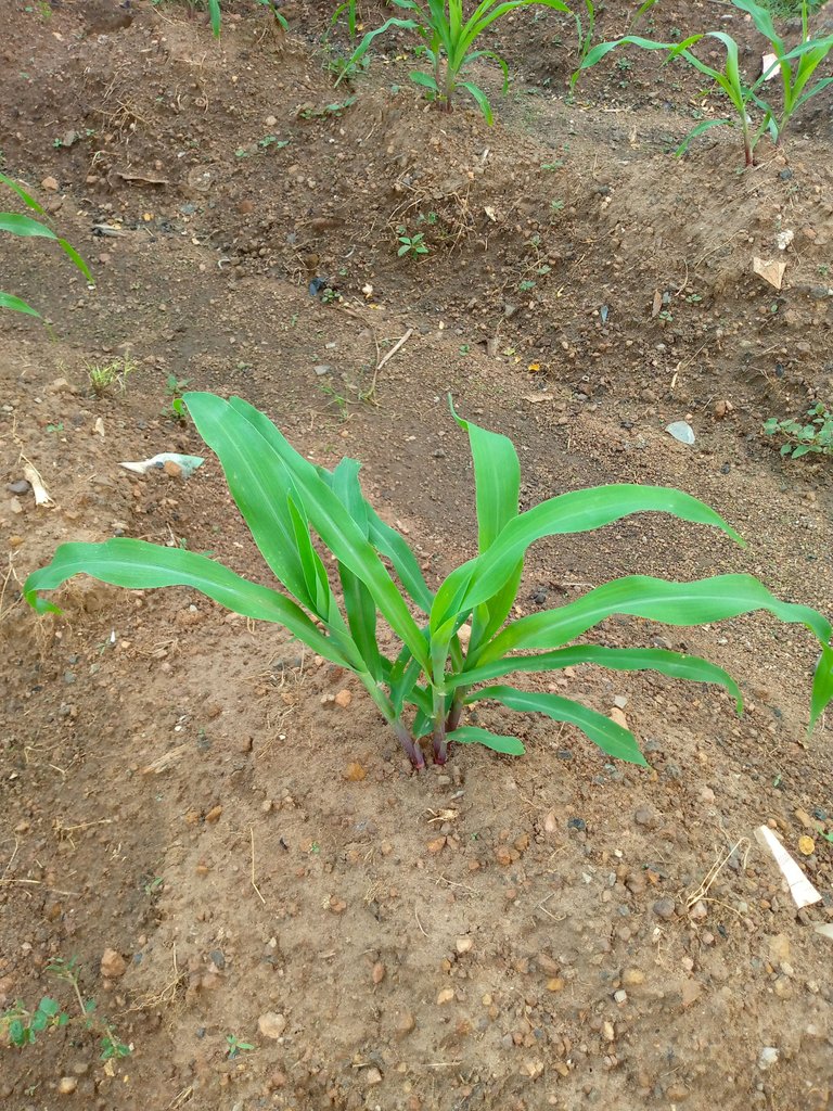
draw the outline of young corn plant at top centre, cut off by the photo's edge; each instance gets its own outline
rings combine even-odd
[[[509,67],[505,60],[493,50],[473,49],[483,31],[501,17],[519,8],[531,8],[533,4],[572,14],[562,0],[481,0],[468,18],[463,12],[463,0],[390,0],[390,2],[394,8],[413,14],[407,19],[391,17],[374,31],[368,31],[350,58],[350,68],[354,69],[373,40],[392,27],[415,31],[422,39],[420,51],[428,59],[431,69],[429,72],[422,70],[412,72],[411,80],[426,89],[434,103],[445,111],[451,111],[455,91],[464,89],[474,99],[488,123],[493,122],[493,116],[486,94],[472,81],[460,80],[461,72],[472,62],[479,58],[490,58],[503,71],[503,91],[509,88]]]

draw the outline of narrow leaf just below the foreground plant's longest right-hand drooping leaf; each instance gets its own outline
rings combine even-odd
[[[578,667],[581,663],[593,663],[613,671],[659,671],[671,679],[719,683],[735,700],[739,712],[743,707],[743,698],[737,683],[723,668],[719,668],[707,660],[701,660],[696,655],[683,655],[681,652],[671,652],[659,648],[604,648],[595,644],[579,644],[575,648],[562,648],[538,655],[500,657],[492,660],[491,663],[452,675],[445,687],[449,690],[456,687],[473,687],[475,683],[489,682],[492,679],[512,674],[514,671],[553,671]]]

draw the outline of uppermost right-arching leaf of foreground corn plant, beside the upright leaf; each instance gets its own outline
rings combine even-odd
[[[684,521],[711,524],[743,544],[720,514],[680,490],[629,484],[573,490],[543,501],[514,518],[488,551],[452,571],[438,590],[431,608],[432,632],[448,622],[452,614],[471,610],[491,598],[536,540],[546,536],[588,532],[640,512],[671,513]]]

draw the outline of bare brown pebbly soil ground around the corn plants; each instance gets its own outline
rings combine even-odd
[[[649,771],[530,720],[512,722],[525,758],[466,749],[416,777],[350,677],[274,627],[87,579],[62,618],[20,598],[57,543],[113,534],[263,578],[214,458],[188,481],[119,466],[201,453],[170,408],[187,381],[247,398],[315,461],[361,460],[432,587],[475,534],[450,391],[514,440],[524,507],[676,486],[749,540],[651,517],[541,543],[523,611],[633,571],[744,571],[833,613],[830,467],[761,432],[831,401],[830,91],[743,173],[731,132],[669,153],[713,110],[682,70],[628,54],[569,96],[574,32],[552,13],[490,43],[513,83],[479,71],[489,128],[419,99],[405,39],[333,89],[330,4],[287,4],[284,37],[241,0],[219,43],[174,3],[2,8],[4,172],[97,286],[50,244],[0,244],[0,288],[51,321],[0,320],[0,1010],[74,1007],[47,971],[74,958],[132,1045],[102,1063],[100,1030],[73,1023],[0,1048],[3,1107],[833,1107],[833,949],[813,930],[833,921],[831,741],[805,735],[803,630],[608,622],[604,643],[705,654],[746,697],[737,718],[711,688],[553,680],[623,709]],[[644,30],[726,16],[754,67],[731,9],[660,0]],[[398,258],[400,227],[426,258]],[[781,290],[754,257],[786,262]],[[89,368],[124,356],[126,389],[96,397]],[[26,461],[52,507],[6,489]],[[753,839],[767,822],[796,857],[814,839],[817,905],[784,892]]]

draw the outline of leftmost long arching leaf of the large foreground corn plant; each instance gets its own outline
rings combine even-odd
[[[122,537],[100,544],[61,544],[51,563],[33,571],[26,580],[26,600],[39,613],[60,613],[57,605],[39,598],[38,591],[54,590],[76,574],[89,574],[100,582],[131,590],[191,587],[243,617],[285,625],[313,652],[343,668],[353,667],[291,599],[277,590],[248,582],[222,563],[197,552]]]

